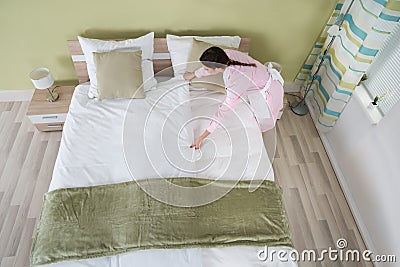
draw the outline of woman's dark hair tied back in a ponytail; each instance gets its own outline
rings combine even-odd
[[[200,61],[204,66],[212,69],[231,65],[256,67],[256,64],[254,63],[243,63],[231,60],[225,51],[217,46],[212,46],[204,51],[200,57]]]

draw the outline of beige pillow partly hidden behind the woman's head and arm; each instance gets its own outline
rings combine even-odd
[[[212,46],[217,46],[222,49],[236,50],[236,48],[233,48],[233,47],[213,45],[213,44],[209,44],[209,43],[206,43],[203,41],[198,41],[195,38],[193,38],[192,49],[190,50],[189,59],[188,59],[188,62],[191,62],[191,63],[187,64],[186,71],[193,72],[193,71],[197,70],[198,68],[201,68],[203,65],[201,64],[201,62],[199,62],[200,56],[203,54],[204,51],[206,51],[208,48],[210,48]],[[224,78],[222,76],[222,73],[218,73],[216,75],[210,75],[210,76],[206,76],[206,77],[202,77],[202,78],[194,78],[190,82],[190,85],[192,85],[193,87],[196,87],[196,88],[201,87],[201,88],[207,88],[207,89],[213,90],[213,91],[218,91],[218,92],[221,92],[224,94],[226,93],[225,83],[224,83]]]

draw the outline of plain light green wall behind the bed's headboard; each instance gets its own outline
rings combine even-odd
[[[154,31],[240,35],[250,54],[277,61],[296,77],[336,0],[0,0],[0,89],[33,88],[28,74],[48,67],[55,80],[76,83],[66,40],[135,37]]]

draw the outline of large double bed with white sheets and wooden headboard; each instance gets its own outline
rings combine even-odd
[[[249,43],[241,39],[238,49],[247,52]],[[193,89],[181,75],[173,76],[165,38],[154,39],[157,83],[145,92],[144,99],[88,98],[90,83],[82,49],[78,41],[68,44],[80,84],[72,97],[49,192],[166,177],[248,180],[255,187],[260,181],[274,180],[258,124],[245,103],[239,104],[235,116],[210,135],[200,150],[189,148],[224,95]],[[210,199],[198,201],[195,205]],[[263,249],[147,249],[51,266],[297,266],[277,258],[261,261],[258,255]],[[291,251],[289,247],[272,249],[287,255]]]

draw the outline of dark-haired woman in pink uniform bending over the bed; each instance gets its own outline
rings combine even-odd
[[[210,47],[200,57],[203,67],[195,72],[186,72],[185,80],[195,77],[201,78],[208,75],[223,73],[225,88],[227,90],[224,102],[220,105],[204,133],[196,139],[190,148],[200,148],[201,142],[211,134],[219,123],[235,109],[241,97],[262,90],[265,101],[269,107],[271,119],[260,127],[263,131],[275,126],[279,111],[283,107],[283,79],[276,70],[266,68],[263,64],[245,53]],[[250,103],[251,104],[251,103]]]

